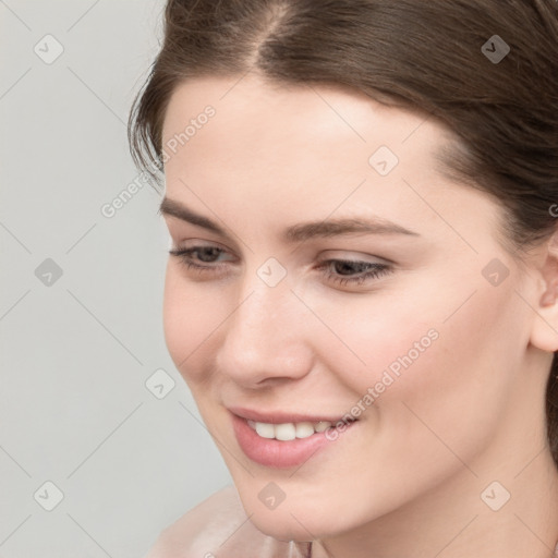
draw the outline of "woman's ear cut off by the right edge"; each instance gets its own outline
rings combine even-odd
[[[558,351],[558,229],[541,246],[537,274],[541,288],[533,306],[538,317],[533,320],[531,343],[543,351]]]

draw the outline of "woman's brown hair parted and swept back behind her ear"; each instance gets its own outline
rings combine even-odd
[[[432,113],[459,138],[440,158],[446,173],[495,196],[520,263],[555,231],[557,0],[169,0],[162,48],[130,112],[136,165],[159,181],[179,83],[250,70]],[[556,354],[546,415],[558,465]]]

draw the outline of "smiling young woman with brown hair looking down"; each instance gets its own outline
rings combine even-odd
[[[131,113],[234,487],[149,558],[558,556],[555,0],[170,0]]]

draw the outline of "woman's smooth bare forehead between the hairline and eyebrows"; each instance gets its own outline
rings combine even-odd
[[[208,107],[213,116],[202,118]],[[369,210],[415,230],[421,222],[451,235],[451,222],[486,233],[494,202],[438,172],[436,153],[452,134],[427,117],[341,87],[192,80],[177,87],[165,119],[163,148],[174,146],[167,193],[235,215],[239,227],[248,215],[279,228]]]

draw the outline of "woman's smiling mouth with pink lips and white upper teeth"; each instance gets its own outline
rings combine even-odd
[[[359,422],[351,416],[310,416],[229,409],[236,441],[252,461],[289,468],[331,446]]]

